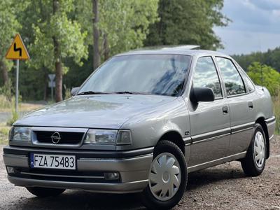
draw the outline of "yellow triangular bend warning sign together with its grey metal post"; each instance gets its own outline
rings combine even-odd
[[[27,48],[25,48],[25,44],[23,43],[20,34],[15,35],[15,38],[13,39],[13,42],[6,53],[6,59],[17,60],[17,69],[15,74],[15,112],[18,113],[18,80],[20,74],[20,59],[29,59]]]

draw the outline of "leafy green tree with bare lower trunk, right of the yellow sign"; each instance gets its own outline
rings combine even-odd
[[[34,13],[31,16],[33,41],[29,44],[29,66],[55,71],[56,102],[62,100],[62,77],[68,70],[63,61],[72,57],[81,65],[81,59],[87,58],[87,32],[81,30],[76,20],[69,18],[73,9],[73,0],[32,1],[27,7],[27,13]]]

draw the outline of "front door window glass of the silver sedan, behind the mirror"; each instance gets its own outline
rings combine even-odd
[[[215,98],[222,97],[221,83],[211,57],[197,59],[193,87],[210,87],[214,92]]]

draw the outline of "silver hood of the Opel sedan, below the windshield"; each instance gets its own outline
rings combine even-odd
[[[119,129],[133,116],[175,99],[141,94],[76,96],[28,113],[14,125]]]

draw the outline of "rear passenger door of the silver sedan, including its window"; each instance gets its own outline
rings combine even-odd
[[[216,57],[221,71],[225,92],[230,106],[230,137],[229,154],[234,155],[247,150],[253,134],[254,100],[250,90],[246,90],[244,81],[232,59]]]

